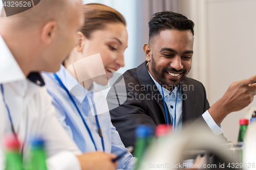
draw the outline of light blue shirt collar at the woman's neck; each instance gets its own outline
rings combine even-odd
[[[69,90],[70,94],[73,95],[80,103],[86,98],[87,95],[93,93],[92,90],[84,88],[63,66],[60,66],[56,75],[59,77],[63,85]]]

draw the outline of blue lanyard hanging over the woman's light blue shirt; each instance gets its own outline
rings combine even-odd
[[[82,118],[82,122],[84,124],[84,126],[86,127],[92,141],[93,141],[93,144],[94,144],[94,147],[95,147],[95,150],[97,151],[97,147],[96,147],[96,144],[95,144],[95,141],[93,139],[93,136],[92,136],[92,133],[91,133],[91,130],[89,129],[88,125],[86,124],[86,121],[84,120],[79,108],[77,107],[72,95],[69,93],[69,90],[63,85],[63,83],[61,82],[61,80],[59,79],[59,77],[56,75],[56,73],[54,74],[55,78],[57,79],[57,81],[59,82],[60,86],[68,93],[69,95],[69,98],[70,100],[72,101],[72,103],[75,105],[76,107],[76,110],[78,111],[80,117]],[[97,116],[97,113],[96,113],[96,108],[95,108],[95,105],[94,105],[94,102],[92,100],[92,103],[93,103],[93,108],[94,108],[94,113],[95,113],[95,118],[96,118],[96,123],[97,123],[97,127],[98,127],[98,132],[99,132],[99,136],[101,138],[101,143],[102,143],[102,149],[103,151],[105,151],[105,147],[104,147],[104,140],[103,140],[103,135],[102,135],[102,131],[100,129],[100,125],[99,125],[99,120],[98,120],[98,116]]]

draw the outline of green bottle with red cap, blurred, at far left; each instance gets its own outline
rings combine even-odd
[[[19,141],[13,134],[6,134],[5,139],[5,170],[22,170],[22,157],[19,154]]]

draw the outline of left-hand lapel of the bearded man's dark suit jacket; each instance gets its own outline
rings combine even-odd
[[[144,63],[142,63],[141,65],[139,65],[137,67],[137,76],[138,76],[138,81],[141,85],[143,85],[146,90],[150,93],[150,95],[153,97],[153,99],[158,103],[158,105],[160,106],[161,110],[162,110],[162,114],[163,117],[165,119],[165,123],[166,123],[166,116],[165,116],[165,111],[164,111],[164,103],[163,103],[163,99],[162,99],[162,95],[160,94],[160,92],[157,89],[156,84],[154,83],[154,81],[151,79],[150,74],[148,74],[147,68],[146,68],[146,63],[147,61],[145,61]],[[167,108],[167,106],[166,106]],[[169,116],[169,111],[167,109],[167,113],[168,113],[168,119],[170,122],[170,116]],[[156,113],[158,114],[158,113]]]

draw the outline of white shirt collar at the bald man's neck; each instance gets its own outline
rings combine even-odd
[[[9,47],[0,34],[0,83],[26,80],[22,69],[13,57]]]

